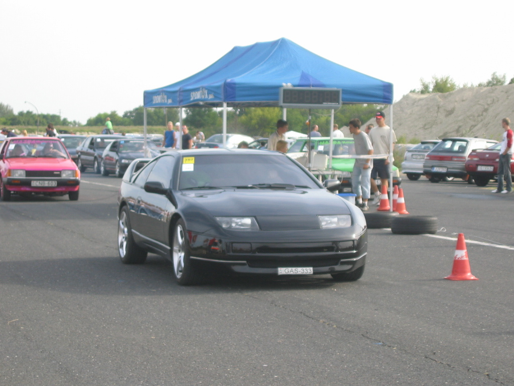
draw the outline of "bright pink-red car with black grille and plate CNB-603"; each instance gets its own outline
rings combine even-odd
[[[10,137],[0,148],[0,198],[68,195],[79,199],[80,171],[56,137]]]

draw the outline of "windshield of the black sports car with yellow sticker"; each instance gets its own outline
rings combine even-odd
[[[274,184],[274,185],[273,185]],[[179,186],[320,188],[291,159],[274,154],[203,154],[182,158]]]

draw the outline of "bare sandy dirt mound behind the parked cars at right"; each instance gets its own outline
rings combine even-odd
[[[389,115],[388,108],[384,112]],[[500,141],[502,118],[509,117],[514,127],[514,84],[466,87],[444,94],[410,93],[394,103],[393,114],[396,136],[405,135],[408,142],[447,136]]]

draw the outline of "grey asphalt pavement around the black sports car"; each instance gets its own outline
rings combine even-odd
[[[369,230],[358,282],[180,287],[156,255],[119,261],[120,183],[86,172],[79,201],[0,202],[3,386],[514,385],[514,194],[405,179],[439,231]],[[479,280],[444,279],[458,233]]]

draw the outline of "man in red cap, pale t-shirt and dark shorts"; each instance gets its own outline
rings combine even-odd
[[[375,126],[370,131],[370,139],[371,144],[373,145],[373,151],[375,155],[384,155],[387,156],[385,159],[375,159],[373,162],[373,169],[371,171],[371,190],[375,193],[375,199],[373,200],[374,205],[380,204],[380,196],[381,193],[378,190],[378,186],[375,182],[377,178],[380,178],[380,182],[382,186],[385,186],[386,189],[389,187],[389,164],[391,161],[389,160],[389,153],[394,149],[394,144],[396,143],[396,134],[389,126],[386,125],[386,114],[383,111],[379,111],[375,114],[375,120],[377,122],[377,126]],[[393,147],[391,148],[391,136],[393,137]]]

